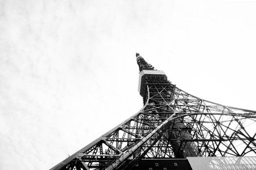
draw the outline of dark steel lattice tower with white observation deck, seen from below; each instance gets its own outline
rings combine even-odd
[[[140,111],[52,170],[131,169],[141,158],[256,156],[256,111],[197,98],[138,53]]]

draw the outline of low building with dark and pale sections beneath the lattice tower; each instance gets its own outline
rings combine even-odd
[[[132,170],[256,170],[255,156],[141,159]]]

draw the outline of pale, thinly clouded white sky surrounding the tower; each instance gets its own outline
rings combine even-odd
[[[49,169],[138,112],[136,52],[256,110],[256,0],[0,0],[0,169]]]

